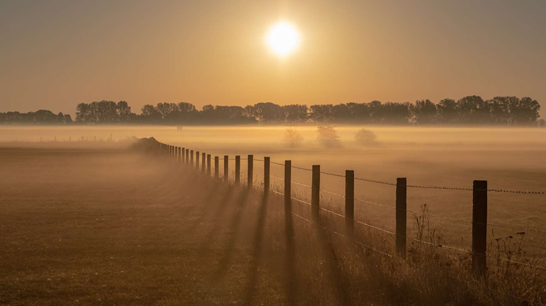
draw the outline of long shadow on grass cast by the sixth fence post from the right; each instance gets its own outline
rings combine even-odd
[[[256,288],[258,287],[258,268],[262,263],[262,244],[264,237],[265,219],[267,215],[269,196],[264,193],[262,196],[262,202],[260,203],[260,209],[258,211],[258,222],[256,225],[256,236],[254,236],[253,253],[250,278],[248,279],[245,305],[252,305],[252,298],[256,294]]]

